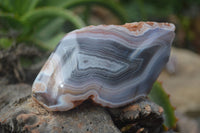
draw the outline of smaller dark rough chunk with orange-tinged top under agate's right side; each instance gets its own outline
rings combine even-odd
[[[163,128],[163,111],[162,107],[148,99],[140,99],[126,107],[109,109],[115,124],[122,131],[130,133],[160,133]]]

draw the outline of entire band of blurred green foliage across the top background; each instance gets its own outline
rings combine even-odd
[[[199,0],[0,0],[0,48],[27,43],[52,50],[65,33],[103,17],[104,24],[173,22],[175,45],[200,53],[199,16]]]

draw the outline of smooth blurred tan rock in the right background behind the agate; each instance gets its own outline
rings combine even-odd
[[[200,111],[200,56],[184,49],[172,49],[177,60],[175,74],[163,71],[159,81],[170,94],[172,104],[180,112]]]

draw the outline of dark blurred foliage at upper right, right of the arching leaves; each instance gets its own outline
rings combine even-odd
[[[200,54],[200,0],[120,0],[132,21],[172,22],[175,46]]]

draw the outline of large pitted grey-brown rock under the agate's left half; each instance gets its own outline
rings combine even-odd
[[[0,88],[3,92],[0,98],[6,97],[4,101],[7,101],[7,105],[1,105],[1,132],[120,133],[110,115],[100,106],[84,103],[67,112],[52,113],[32,101],[28,85]]]

